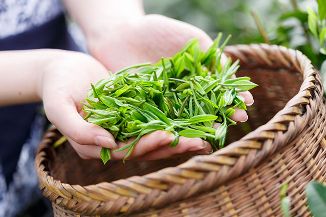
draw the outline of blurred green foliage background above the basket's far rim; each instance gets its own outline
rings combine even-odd
[[[204,30],[232,35],[230,44],[270,43],[302,51],[316,68],[326,56],[310,33],[306,8],[318,11],[315,0],[144,0],[146,14],[161,14]],[[255,21],[256,20],[256,21]],[[259,28],[261,31],[259,31]],[[266,34],[264,40],[263,36]]]

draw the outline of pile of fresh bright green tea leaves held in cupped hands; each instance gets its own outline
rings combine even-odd
[[[170,146],[178,145],[179,137],[200,137],[217,150],[225,143],[230,119],[235,108],[246,110],[245,99],[239,92],[257,85],[249,77],[232,77],[239,60],[228,58],[221,65],[223,49],[230,39],[219,46],[222,34],[203,52],[198,39],[192,39],[172,58],[130,66],[97,84],[91,84],[87,95],[85,119],[107,129],[119,141],[136,139],[114,151],[128,149],[123,162],[139,138],[156,130],[174,133]],[[214,129],[214,122],[221,125]],[[218,141],[218,147],[215,142]],[[102,148],[106,163],[110,149]]]

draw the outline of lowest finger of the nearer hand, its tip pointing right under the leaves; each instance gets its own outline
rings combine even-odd
[[[141,160],[156,160],[166,159],[176,156],[184,156],[189,154],[209,154],[212,152],[212,147],[209,142],[201,138],[186,138],[181,136],[176,147],[171,148],[169,145],[162,146],[156,150],[148,152],[141,156]],[[137,159],[135,159],[137,160]]]

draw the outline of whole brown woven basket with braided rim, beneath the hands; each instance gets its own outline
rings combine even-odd
[[[310,216],[304,188],[326,179],[325,106],[319,73],[299,51],[229,46],[238,76],[259,87],[249,120],[230,127],[226,147],[180,160],[82,160],[61,135],[44,135],[36,157],[40,189],[55,216],[282,216],[288,183],[291,216]]]

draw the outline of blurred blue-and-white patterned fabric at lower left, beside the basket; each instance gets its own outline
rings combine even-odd
[[[43,137],[45,124],[45,117],[37,115],[31,126],[30,138],[23,145],[17,171],[8,188],[0,165],[0,217],[15,216],[33,203],[33,200],[40,198],[34,159]]]

